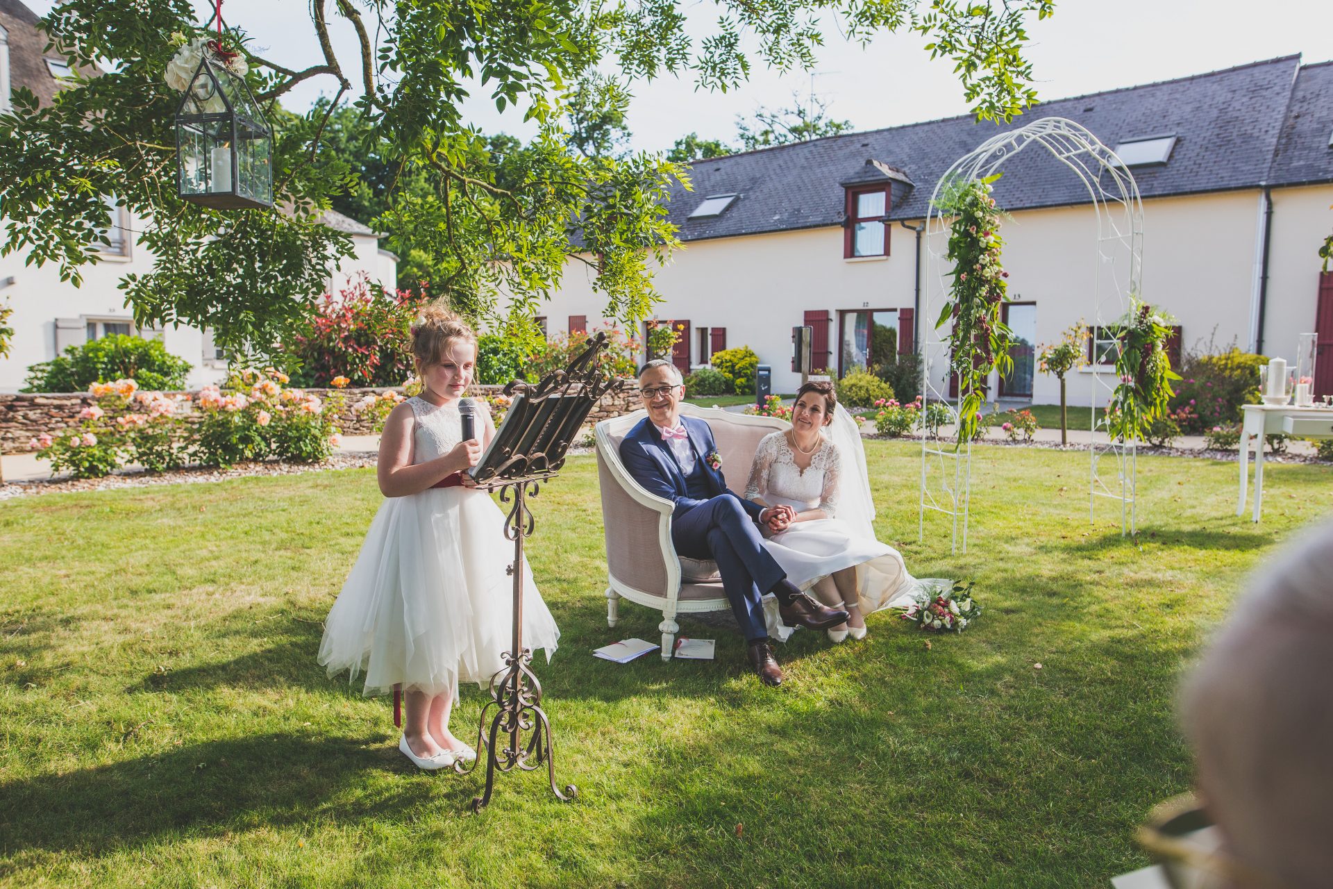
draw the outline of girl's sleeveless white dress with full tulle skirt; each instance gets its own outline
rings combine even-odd
[[[456,403],[408,400],[415,425],[412,462],[452,450],[461,440]],[[489,682],[504,666],[513,632],[513,544],[491,496],[468,488],[428,488],[388,497],[329,610],[320,664],[351,680],[365,672],[365,694],[401,684],[428,694],[460,681]],[[560,630],[523,565],[523,644],[556,649]]]

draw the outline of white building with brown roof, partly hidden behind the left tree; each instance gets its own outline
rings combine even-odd
[[[21,87],[49,103],[69,72],[67,59],[45,49],[47,37],[36,24],[37,16],[19,0],[0,0],[0,113],[9,109],[12,92]],[[112,220],[115,224],[105,232],[97,264],[84,268],[81,287],[61,281],[55,265],[25,265],[24,251],[0,257],[0,304],[8,300],[15,311],[11,319],[13,347],[8,359],[0,359],[0,392],[17,392],[31,365],[108,333],[160,337],[168,352],[195,365],[188,380],[191,388],[225,376],[227,361],[213,347],[208,331],[191,327],[140,331],[135,327],[119,281],[125,275],[151,271],[153,256],[135,244],[139,220],[116,207],[112,207]],[[324,215],[324,223],[351,235],[356,251],[353,259],[329,268],[329,292],[361,276],[389,289],[397,285],[397,257],[380,249],[377,233],[333,211]]]

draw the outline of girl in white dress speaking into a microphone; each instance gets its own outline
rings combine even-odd
[[[460,680],[485,684],[504,666],[513,548],[489,494],[459,484],[495,435],[479,400],[480,440],[461,440],[459,399],[476,368],[476,333],[429,307],[413,328],[412,352],[423,391],[384,424],[377,476],[385,501],[329,610],[320,664],[352,680],[364,670],[365,694],[401,685],[399,749],[421,769],[440,769],[477,756],[449,730],[449,712]],[[549,660],[560,630],[527,561],[523,572],[524,641]]]

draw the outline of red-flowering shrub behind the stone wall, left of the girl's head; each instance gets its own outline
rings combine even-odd
[[[309,331],[285,344],[301,364],[293,385],[325,387],[339,376],[357,387],[401,385],[415,372],[411,325],[425,301],[411,291],[391,295],[365,276],[337,296],[325,293]]]

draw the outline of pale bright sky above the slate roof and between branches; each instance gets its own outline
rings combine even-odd
[[[39,15],[51,0],[25,0]],[[207,9],[205,9],[207,5]],[[212,4],[196,0],[200,21]],[[227,0],[228,24],[255,37],[257,52],[291,68],[321,61],[305,0]],[[689,29],[706,33],[717,8],[685,0]],[[356,35],[331,15],[331,29],[344,69],[357,69]],[[1028,28],[1026,57],[1033,63],[1037,93],[1064,99],[1102,89],[1170,80],[1262,59],[1301,53],[1305,63],[1333,60],[1333,1],[1266,0],[1057,0],[1056,15]],[[884,35],[868,47],[849,43],[829,23],[825,45],[809,72],[780,75],[756,65],[749,83],[728,93],[696,91],[686,79],[635,83],[629,112],[629,147],[665,151],[681,136],[736,141],[737,115],[760,107],[809,101],[813,92],[836,120],[854,129],[878,129],[968,112],[962,89],[946,59],[929,60],[916,35]],[[357,79],[353,77],[353,81]],[[336,91],[332,77],[300,84],[284,104],[304,111],[321,93]],[[479,89],[467,105],[468,120],[485,132],[531,136],[532,125],[512,109],[500,113]]]

